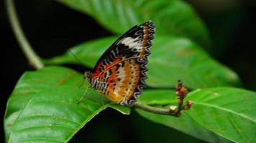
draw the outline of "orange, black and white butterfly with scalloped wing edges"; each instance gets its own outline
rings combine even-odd
[[[154,34],[152,21],[129,29],[104,52],[92,72],[85,72],[88,86],[116,104],[136,102],[145,87],[147,56]]]

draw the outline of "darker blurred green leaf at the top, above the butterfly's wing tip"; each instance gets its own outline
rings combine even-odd
[[[210,46],[206,26],[191,6],[180,0],[59,0],[88,14],[110,31],[124,34],[136,24],[152,20],[158,35],[185,36],[205,48]]]

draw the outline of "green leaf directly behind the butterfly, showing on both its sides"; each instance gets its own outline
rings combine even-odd
[[[91,68],[101,54],[116,40],[109,37],[73,47],[71,51],[81,62]],[[77,63],[67,52],[45,60],[46,64]],[[170,87],[181,79],[191,88],[239,86],[234,71],[212,59],[200,46],[184,38],[157,36],[153,41],[148,63],[147,84],[151,87]]]

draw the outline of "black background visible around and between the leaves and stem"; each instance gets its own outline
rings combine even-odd
[[[244,88],[256,90],[256,2],[187,0],[205,21],[214,49],[209,54],[237,72]],[[83,41],[110,36],[91,17],[52,0],[15,1],[24,33],[37,54],[50,58]],[[19,77],[34,70],[19,49],[0,2],[1,119]],[[3,131],[3,127],[2,127]],[[4,142],[4,133],[1,134]],[[81,130],[72,142],[202,142],[132,112],[107,109]]]

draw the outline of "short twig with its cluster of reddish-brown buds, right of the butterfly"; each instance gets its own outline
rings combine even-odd
[[[193,102],[191,100],[188,100],[186,104],[183,104],[183,100],[187,96],[188,90],[186,89],[186,87],[183,86],[180,80],[178,81],[177,86],[175,86],[175,89],[177,91],[176,95],[177,95],[178,106],[170,106],[170,108],[167,109],[167,108],[151,107],[146,104],[140,104],[138,102],[135,102],[131,104],[130,107],[140,108],[147,112],[152,112],[155,114],[165,114],[169,116],[180,117],[181,111],[184,109],[190,109]]]

